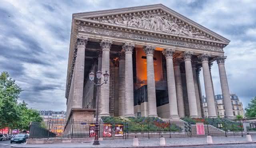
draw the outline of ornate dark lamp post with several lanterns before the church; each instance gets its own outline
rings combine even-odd
[[[93,83],[95,86],[98,87],[102,86],[103,84],[107,84],[108,81],[108,71],[106,71],[104,74],[104,82],[102,84],[100,84],[100,80],[102,78],[102,72],[99,70],[98,72],[96,72],[96,83],[94,83],[94,73],[91,72],[89,74],[89,78],[90,78],[90,82]],[[98,95],[97,95],[98,96]],[[94,142],[93,145],[100,145],[99,142],[99,97],[96,98],[96,124],[95,124],[95,138],[94,138]]]

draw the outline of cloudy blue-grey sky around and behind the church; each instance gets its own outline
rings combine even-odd
[[[162,3],[231,40],[224,48],[230,92],[244,106],[256,96],[254,0],[0,0],[0,72],[22,87],[20,100],[44,110],[66,110],[65,86],[72,13]],[[218,65],[212,67],[221,93]],[[201,77],[204,94],[203,79]]]

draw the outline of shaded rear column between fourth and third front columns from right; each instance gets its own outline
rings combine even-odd
[[[178,114],[180,118],[185,117],[185,106],[182,90],[182,78],[180,73],[180,62],[181,59],[174,59],[174,76],[176,84],[176,95],[177,95],[177,104],[178,104]]]

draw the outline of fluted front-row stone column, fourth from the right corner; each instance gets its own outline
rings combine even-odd
[[[176,96],[176,86],[174,78],[174,68],[173,68],[173,58],[172,54],[175,50],[170,48],[165,48],[163,51],[166,57],[166,72],[167,72],[167,86],[168,86],[168,98],[170,106],[170,118],[179,119],[178,106],[177,106],[177,96]]]

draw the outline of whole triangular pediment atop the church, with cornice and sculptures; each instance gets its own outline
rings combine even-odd
[[[84,12],[74,14],[74,17],[132,28],[140,28],[143,30],[163,32],[184,38],[189,37],[220,41],[226,44],[230,42],[228,39],[162,4]]]

